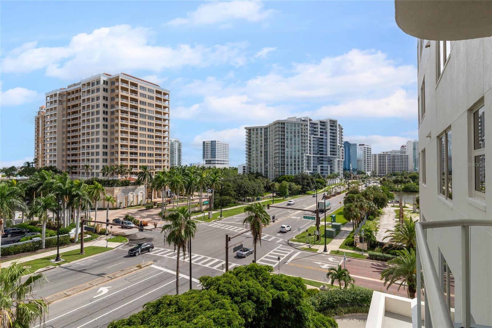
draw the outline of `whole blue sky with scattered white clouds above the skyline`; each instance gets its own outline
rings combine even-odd
[[[416,39],[393,1],[1,1],[0,166],[32,160],[44,93],[126,72],[171,91],[183,164],[201,141],[245,162],[244,127],[338,119],[344,140],[417,137]],[[22,12],[22,22],[18,13]]]

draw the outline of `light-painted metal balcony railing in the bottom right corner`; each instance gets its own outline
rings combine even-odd
[[[491,220],[455,219],[440,221],[417,222],[415,233],[416,245],[416,265],[417,272],[424,274],[425,287],[425,327],[454,328],[453,320],[444,298],[441,288],[439,275],[432,261],[431,251],[427,244],[424,229],[431,228],[450,228],[461,227],[461,326],[470,328],[471,309],[470,309],[470,227],[488,226],[492,227]],[[417,274],[417,324],[422,322],[422,277]],[[427,319],[431,319],[430,322]]]

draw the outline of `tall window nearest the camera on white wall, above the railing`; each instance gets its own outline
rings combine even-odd
[[[485,194],[485,106],[473,112],[473,168],[475,195]]]

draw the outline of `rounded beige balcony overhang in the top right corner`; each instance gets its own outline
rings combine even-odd
[[[492,36],[490,0],[395,0],[400,29],[426,40],[467,40]]]

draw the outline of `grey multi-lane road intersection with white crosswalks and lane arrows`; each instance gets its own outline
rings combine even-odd
[[[318,195],[319,196],[319,195]],[[318,197],[319,199],[319,197]],[[343,195],[333,197],[332,210],[338,209]],[[286,202],[276,205],[288,208],[271,208],[268,213],[276,216],[276,222],[263,228],[261,246],[257,246],[256,258],[259,264],[268,264],[275,272],[300,276],[307,279],[324,281],[328,268],[338,265],[342,257],[323,253],[312,253],[293,248],[288,240],[314,225],[314,221],[303,219],[304,210],[315,208],[315,197],[299,197],[295,205],[286,206]],[[295,210],[295,209],[303,210]],[[327,213],[328,214],[328,213]],[[202,275],[220,275],[225,267],[225,234],[234,235],[243,232],[244,214],[225,218],[210,223],[199,223],[198,231],[192,241],[192,287],[200,288],[198,278]],[[292,227],[292,231],[279,231],[282,224]],[[153,264],[139,269],[121,278],[113,279],[107,284],[99,285],[50,304],[47,327],[106,327],[113,320],[127,317],[142,309],[143,304],[155,300],[164,294],[174,294],[176,288],[176,253],[172,245],[166,245],[159,231],[136,232],[128,235],[128,245],[101,253],[82,261],[67,263],[45,272],[49,283],[36,291],[36,294],[48,297],[68,290],[74,286],[91,282],[101,276],[125,269],[140,262],[153,261]],[[139,257],[130,257],[127,251],[133,244],[152,241],[154,250]],[[233,240],[230,245],[242,243],[252,247],[252,236],[244,233]],[[280,257],[280,261],[278,261]],[[180,261],[180,293],[189,288],[188,257]],[[229,269],[238,265],[251,263],[253,256],[238,258],[229,249]],[[346,267],[355,278],[357,285],[375,290],[383,289],[379,280],[384,263],[348,259]],[[396,288],[390,288],[397,294]],[[404,292],[400,292],[404,295]]]

